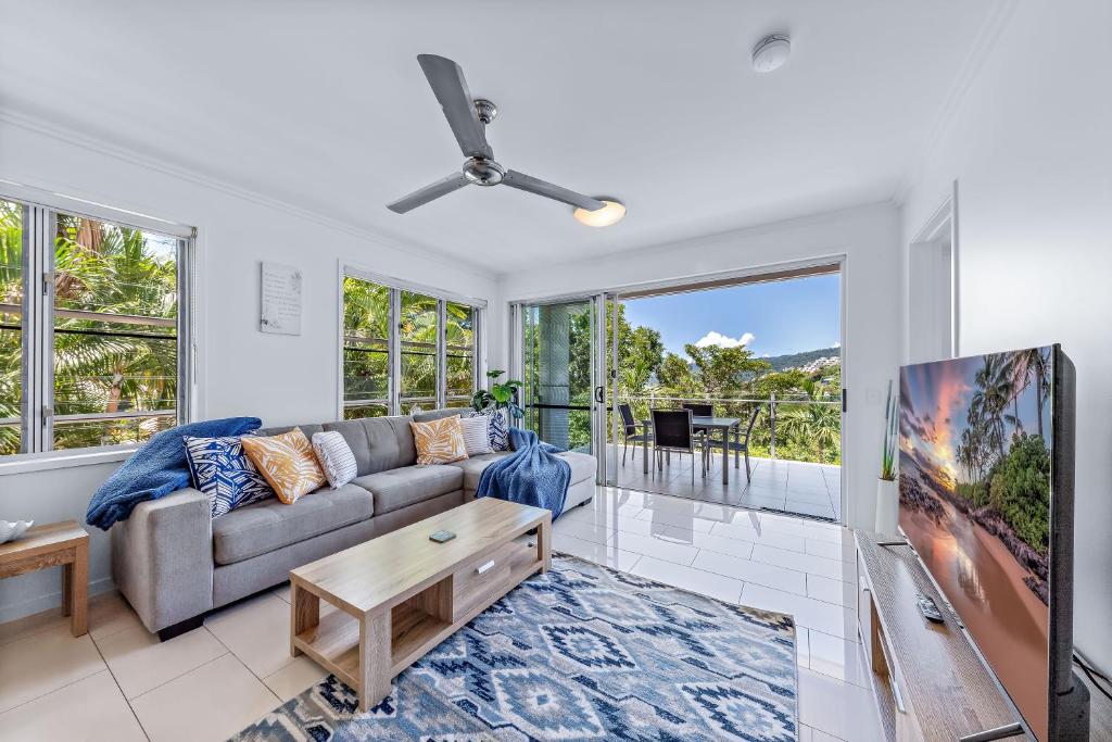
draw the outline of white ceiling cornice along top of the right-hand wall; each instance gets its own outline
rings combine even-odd
[[[892,200],[896,205],[902,206],[906,200],[926,162],[930,161],[931,156],[941,145],[943,136],[953,123],[962,102],[965,100],[965,96],[973,86],[973,81],[980,75],[981,68],[984,67],[985,60],[991,56],[996,41],[1007,27],[1017,7],[1017,0],[996,0],[992,10],[989,11],[984,22],[981,24],[981,30],[973,41],[970,53],[966,56],[965,61],[962,62],[962,67],[957,71],[953,85],[951,85],[946,97],[939,107],[937,113],[935,113],[919,151],[912,157],[907,170],[904,172],[903,178],[900,179],[900,184],[892,196]],[[954,175],[956,176],[956,174]]]

